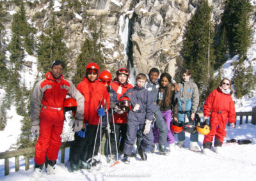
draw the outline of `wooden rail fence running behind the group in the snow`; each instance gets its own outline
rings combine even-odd
[[[200,113],[200,117],[202,117],[202,113]],[[237,112],[237,117],[240,117],[239,124],[243,124],[243,118],[245,117],[245,123],[249,122],[249,116],[251,116],[252,124],[256,125],[256,107],[252,109],[252,112]],[[238,124],[238,122],[236,122]],[[230,126],[228,124],[228,126]],[[61,163],[65,163],[65,148],[70,147],[72,141],[63,142],[61,144]],[[25,170],[29,170],[29,156],[35,154],[35,148],[22,148],[20,150],[13,150],[13,151],[6,151],[0,153],[0,159],[4,159],[4,175],[9,174],[9,158],[15,157],[15,171],[19,171],[19,157],[24,156],[26,163],[25,163]]]

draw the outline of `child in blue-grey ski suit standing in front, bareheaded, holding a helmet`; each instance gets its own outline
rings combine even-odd
[[[124,96],[131,101],[132,108],[127,115],[127,133],[124,145],[124,163],[129,164],[129,157],[132,154],[132,147],[139,129],[143,132],[140,148],[138,152],[143,161],[147,160],[146,150],[153,144],[154,136],[151,129],[151,122],[156,109],[152,94],[145,89],[147,76],[140,73],[136,76],[135,87],[128,89]],[[124,97],[123,96],[123,97]]]

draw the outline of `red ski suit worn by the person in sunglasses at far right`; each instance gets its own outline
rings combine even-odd
[[[236,122],[236,110],[232,97],[223,93],[220,86],[212,91],[205,101],[204,116],[209,117],[210,114],[211,131],[204,136],[204,143],[211,142],[214,136],[223,143],[227,133],[225,131],[227,120],[230,123]]]

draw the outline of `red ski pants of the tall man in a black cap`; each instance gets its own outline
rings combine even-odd
[[[57,110],[47,106],[40,112],[40,134],[35,145],[35,163],[45,163],[45,156],[55,161],[61,145],[61,133],[63,129],[63,109]]]

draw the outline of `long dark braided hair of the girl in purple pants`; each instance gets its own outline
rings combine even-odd
[[[159,84],[160,84],[160,88],[159,88],[159,92],[163,93],[163,85],[161,83],[161,80],[162,78],[165,77],[168,79],[168,82],[169,82],[169,85],[167,87],[167,91],[166,91],[166,95],[165,95],[165,99],[164,99],[164,105],[166,107],[168,107],[170,105],[170,99],[172,98],[172,92],[174,91],[174,86],[173,86],[173,83],[172,83],[172,76],[169,74],[169,73],[162,73],[161,76],[160,76],[160,81],[159,81]],[[158,100],[158,105],[161,105],[161,102],[162,100],[159,99]]]

